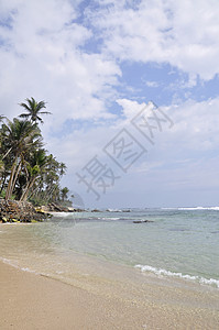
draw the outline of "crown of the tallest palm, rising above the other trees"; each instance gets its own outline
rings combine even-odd
[[[26,103],[20,103],[20,106],[28,111],[28,113],[21,113],[20,117],[24,119],[30,119],[32,123],[36,123],[37,121],[43,123],[43,120],[40,116],[51,114],[51,112],[48,111],[41,111],[42,109],[46,108],[45,101],[36,102],[34,98],[31,98],[26,99]]]

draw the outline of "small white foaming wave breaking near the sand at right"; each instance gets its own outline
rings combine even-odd
[[[217,288],[219,288],[219,279],[215,279],[215,278],[205,278],[205,277],[200,277],[200,276],[193,276],[193,275],[184,275],[182,273],[174,273],[171,271],[166,271],[166,270],[162,270],[162,268],[155,268],[152,266],[147,266],[147,265],[135,265],[135,268],[140,268],[142,272],[150,272],[153,273],[155,275],[163,275],[163,276],[168,276],[168,277],[178,277],[178,278],[183,278],[183,279],[188,279],[188,280],[195,280],[198,282],[199,284],[207,284],[207,285],[212,285]]]

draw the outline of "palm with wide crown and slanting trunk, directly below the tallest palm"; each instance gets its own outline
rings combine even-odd
[[[10,146],[12,153],[12,167],[6,191],[6,200],[11,198],[19,173],[25,163],[25,157],[31,148],[37,148],[42,146],[42,136],[40,129],[35,123],[30,121],[22,121],[13,119],[8,120],[8,125],[2,125],[2,136],[4,145]]]

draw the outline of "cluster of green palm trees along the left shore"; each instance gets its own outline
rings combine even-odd
[[[6,200],[31,201],[35,206],[67,202],[68,188],[61,187],[66,165],[44,148],[39,123],[44,101],[20,103],[25,112],[12,121],[0,116],[0,196]]]

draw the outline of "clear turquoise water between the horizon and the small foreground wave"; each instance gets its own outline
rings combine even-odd
[[[133,223],[143,220],[152,222]],[[36,256],[56,253],[68,260],[78,252],[143,273],[219,287],[219,208],[57,213],[45,223],[17,226],[14,231],[19,241],[13,260],[24,246]],[[1,251],[10,260],[6,249]]]

